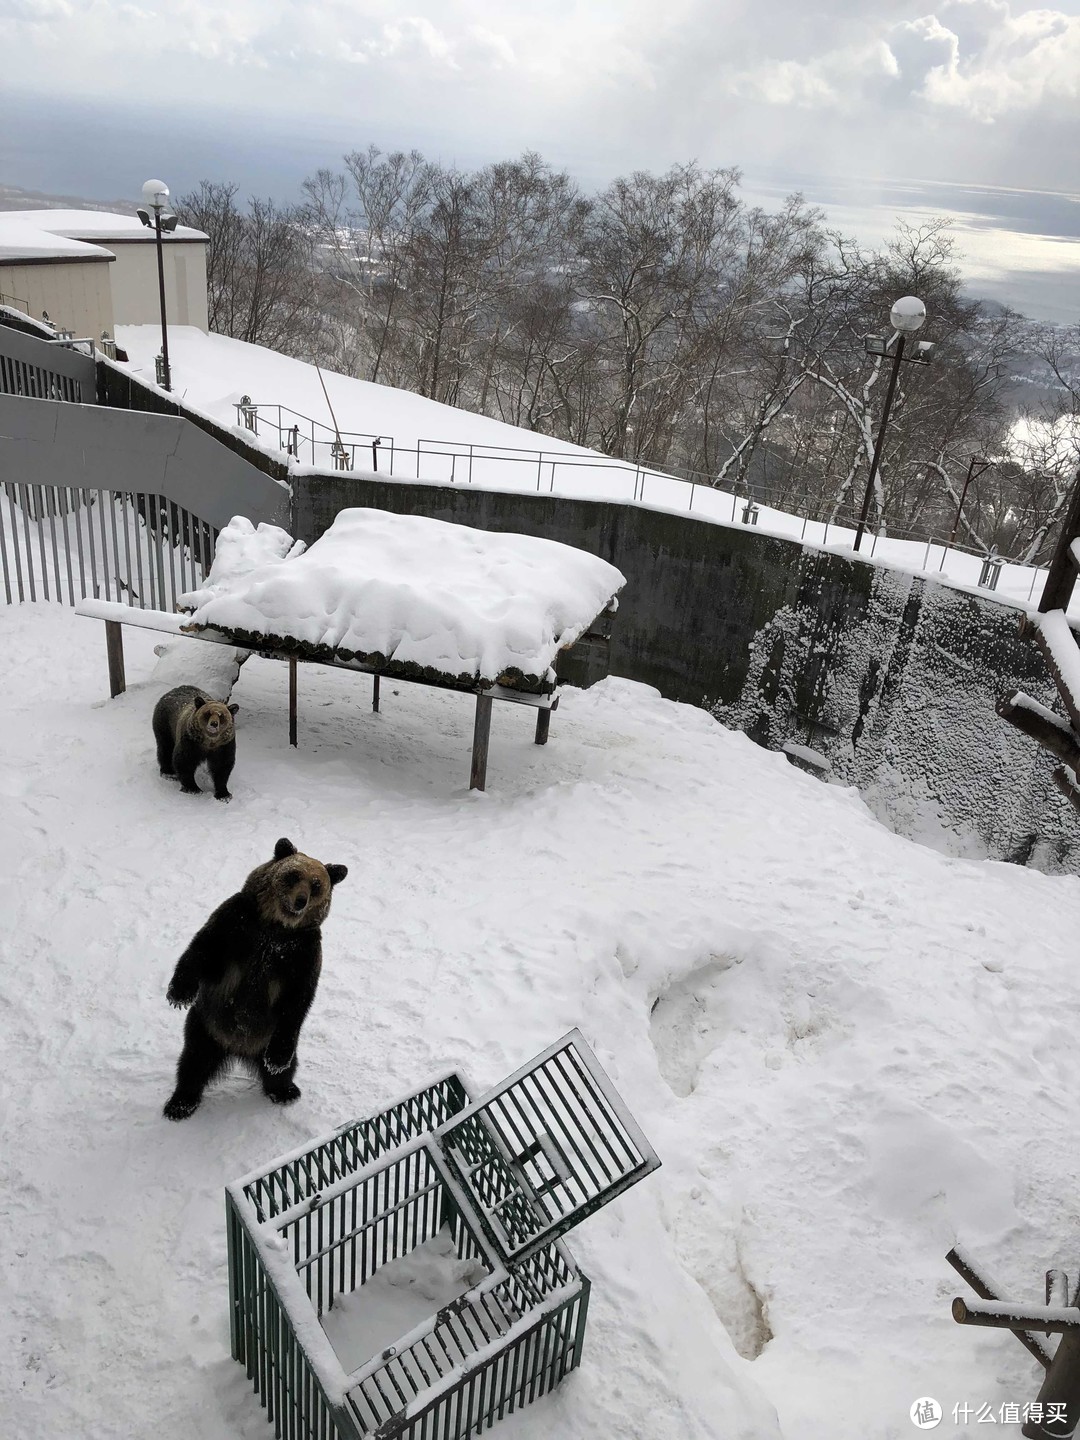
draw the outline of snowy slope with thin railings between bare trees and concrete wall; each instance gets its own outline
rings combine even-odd
[[[161,347],[160,328],[120,325],[117,338],[130,356],[131,369],[153,384],[154,356]],[[228,336],[207,336],[192,325],[170,325],[168,356],[176,393],[184,403],[220,425],[236,428],[236,405],[245,395],[249,396],[259,406],[261,441],[274,454],[281,454],[278,431],[265,429],[268,422],[274,420],[276,426],[281,419],[285,428],[298,423],[300,461],[305,465],[312,462],[311,441],[305,439],[311,435],[315,436],[314,459],[323,469],[331,465],[334,429],[328,396],[343,435],[383,436],[379,448],[382,474],[390,469],[393,441],[393,474],[405,480],[419,477],[442,482],[471,482],[494,490],[540,490],[631,503],[636,500],[703,520],[742,524],[746,500],[730,491],[707,485],[691,487],[652,471],[642,475],[634,465],[613,461],[596,451],[439,405],[409,390],[370,384],[330,370],[323,372],[327,389],[324,395],[314,366]],[[288,413],[278,416],[278,406],[288,408]],[[315,422],[314,431],[308,420]],[[249,431],[242,433],[252,438]],[[370,459],[369,448],[359,446],[356,467],[366,469]],[[854,541],[854,530],[844,526],[804,520],[769,505],[759,507],[756,523],[762,534],[788,536],[828,550],[851,550]],[[946,539],[942,536],[939,543],[927,544],[922,540],[878,540],[867,536],[861,553],[903,570],[926,572],[949,583],[976,586],[982,570],[981,557],[963,550],[946,550]],[[959,541],[963,543],[963,536]],[[998,577],[996,593],[1004,599],[1038,603],[1044,582],[1045,570],[1007,564]],[[1080,615],[1080,595],[1070,609]]]

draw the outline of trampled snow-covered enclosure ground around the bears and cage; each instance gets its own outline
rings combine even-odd
[[[1076,1266],[1080,884],[946,858],[854,791],[626,681],[546,747],[467,697],[252,660],[230,805],[160,779],[196,641],[0,611],[0,1434],[264,1440],[229,1358],[222,1191],[448,1067],[485,1087],[579,1025],[662,1168],[569,1240],[585,1364],[505,1440],[906,1437],[1040,1371],[960,1329],[956,1240],[1022,1300]],[[196,654],[197,652],[197,654]],[[161,1117],[183,945],[275,840],[348,865],[302,1099],[236,1074]],[[1066,1123],[1068,1122],[1068,1123]],[[973,1410],[972,1410],[973,1414]],[[1018,1426],[999,1424],[1018,1434]]]

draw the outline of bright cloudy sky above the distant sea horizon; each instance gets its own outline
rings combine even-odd
[[[147,102],[167,81],[177,122],[228,112],[278,135],[318,128],[340,135],[327,164],[374,141],[468,163],[528,147],[583,176],[697,157],[1066,187],[1080,184],[1079,12],[1080,0],[0,0],[0,33],[24,91]],[[1034,157],[1032,134],[1045,137]]]

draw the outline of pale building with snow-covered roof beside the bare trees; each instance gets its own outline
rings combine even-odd
[[[177,225],[161,242],[167,320],[207,330],[207,236]],[[0,304],[35,320],[48,314],[79,338],[112,336],[117,325],[158,324],[154,232],[135,215],[0,212]]]

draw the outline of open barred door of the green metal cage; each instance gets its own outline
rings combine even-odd
[[[526,1260],[660,1165],[577,1030],[435,1138],[505,1264]]]

